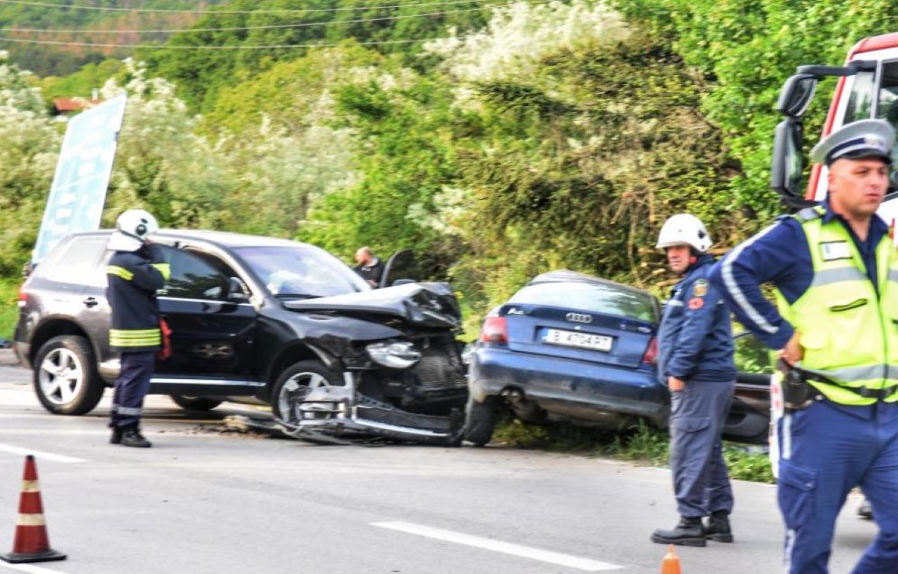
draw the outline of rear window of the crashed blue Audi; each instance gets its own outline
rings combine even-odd
[[[508,302],[657,322],[655,300],[651,295],[601,283],[537,283],[517,291]]]

